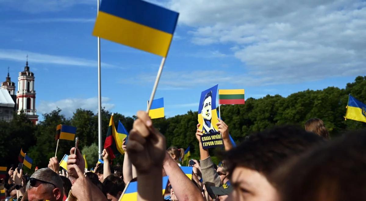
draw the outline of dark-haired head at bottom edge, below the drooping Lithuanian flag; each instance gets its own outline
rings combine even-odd
[[[103,181],[103,191],[109,201],[117,201],[122,195],[123,189],[123,180],[115,175],[109,175]]]

